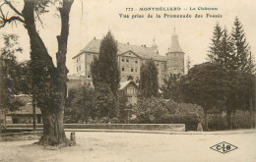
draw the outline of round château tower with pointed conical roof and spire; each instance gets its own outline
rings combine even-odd
[[[166,75],[181,74],[184,75],[184,52],[180,48],[178,35],[175,31],[171,35],[171,44],[166,53]]]

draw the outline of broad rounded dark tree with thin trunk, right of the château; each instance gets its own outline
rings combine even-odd
[[[185,102],[195,103],[204,109],[205,127],[208,130],[207,115],[213,108],[221,109],[225,103],[226,71],[217,63],[204,63],[191,68],[180,80],[180,92]]]

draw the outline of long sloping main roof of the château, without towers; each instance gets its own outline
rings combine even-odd
[[[79,54],[73,57],[76,58],[77,56],[85,53],[85,52],[91,52],[91,53],[99,53],[99,46],[100,46],[100,39],[93,39],[89,42],[89,44],[82,49]],[[160,56],[156,53],[155,47],[146,47],[146,46],[138,46],[138,45],[131,45],[131,44],[125,44],[125,43],[117,43],[117,55],[121,55],[125,52],[132,51],[138,56],[140,56],[143,59],[154,59],[159,61],[166,61],[165,56]]]

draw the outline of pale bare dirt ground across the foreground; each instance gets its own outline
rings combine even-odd
[[[48,150],[36,140],[0,142],[0,161],[218,161],[255,162],[256,134],[159,135],[134,133],[76,133],[79,145]],[[238,148],[226,154],[210,149],[226,141]]]

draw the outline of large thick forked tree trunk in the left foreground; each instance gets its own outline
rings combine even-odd
[[[68,69],[66,68],[67,41],[69,35],[69,13],[73,0],[61,1],[58,8],[61,19],[61,32],[57,36],[58,51],[56,53],[57,67],[54,66],[41,37],[35,27],[35,16],[46,11],[52,4],[49,0],[24,0],[23,11],[19,12],[11,1],[4,0],[16,15],[8,18],[1,10],[1,27],[7,23],[19,21],[25,25],[30,36],[32,61],[32,96],[36,106],[40,108],[43,121],[43,135],[39,144],[58,145],[67,143],[63,127],[63,111],[66,99],[66,82]]]

